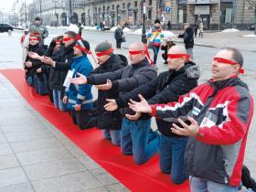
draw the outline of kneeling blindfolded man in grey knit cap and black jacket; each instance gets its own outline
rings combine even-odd
[[[112,45],[105,41],[101,42],[95,48],[99,67],[91,72],[91,75],[113,72],[127,66],[127,59],[120,54],[114,54]],[[118,98],[118,90],[109,90],[108,85],[95,85],[98,88],[98,100],[95,103],[94,115],[91,118],[95,119],[95,126],[102,130],[103,138],[112,141],[113,145],[120,145],[120,133],[122,125],[121,112],[106,112],[104,104],[108,98]],[[92,110],[91,110],[92,111]]]

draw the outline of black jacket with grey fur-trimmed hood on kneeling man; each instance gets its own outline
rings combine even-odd
[[[138,94],[142,94],[149,104],[161,104],[177,101],[180,95],[197,87],[199,71],[195,63],[188,62],[179,70],[168,70],[150,82],[130,91],[116,100],[118,107],[125,107],[130,99],[139,101]],[[172,123],[156,119],[160,133],[165,136],[177,136],[170,131]]]

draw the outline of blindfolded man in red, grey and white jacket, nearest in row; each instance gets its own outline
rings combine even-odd
[[[149,105],[131,101],[134,112],[147,112],[170,122],[171,132],[189,136],[185,170],[192,192],[238,191],[247,136],[253,115],[253,100],[240,80],[243,58],[236,48],[223,48],[212,61],[212,79],[178,101]],[[180,117],[187,116],[186,123]]]

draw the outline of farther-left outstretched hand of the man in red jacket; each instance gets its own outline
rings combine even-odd
[[[152,110],[148,102],[144,99],[144,97],[141,94],[139,94],[139,98],[141,100],[140,102],[130,100],[130,102],[128,103],[130,109],[132,109],[133,112],[151,113]]]

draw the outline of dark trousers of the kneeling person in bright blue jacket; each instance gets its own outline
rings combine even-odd
[[[78,124],[80,129],[89,129],[96,125],[96,117],[89,115],[89,110],[76,112],[75,110],[69,110],[73,123]]]

